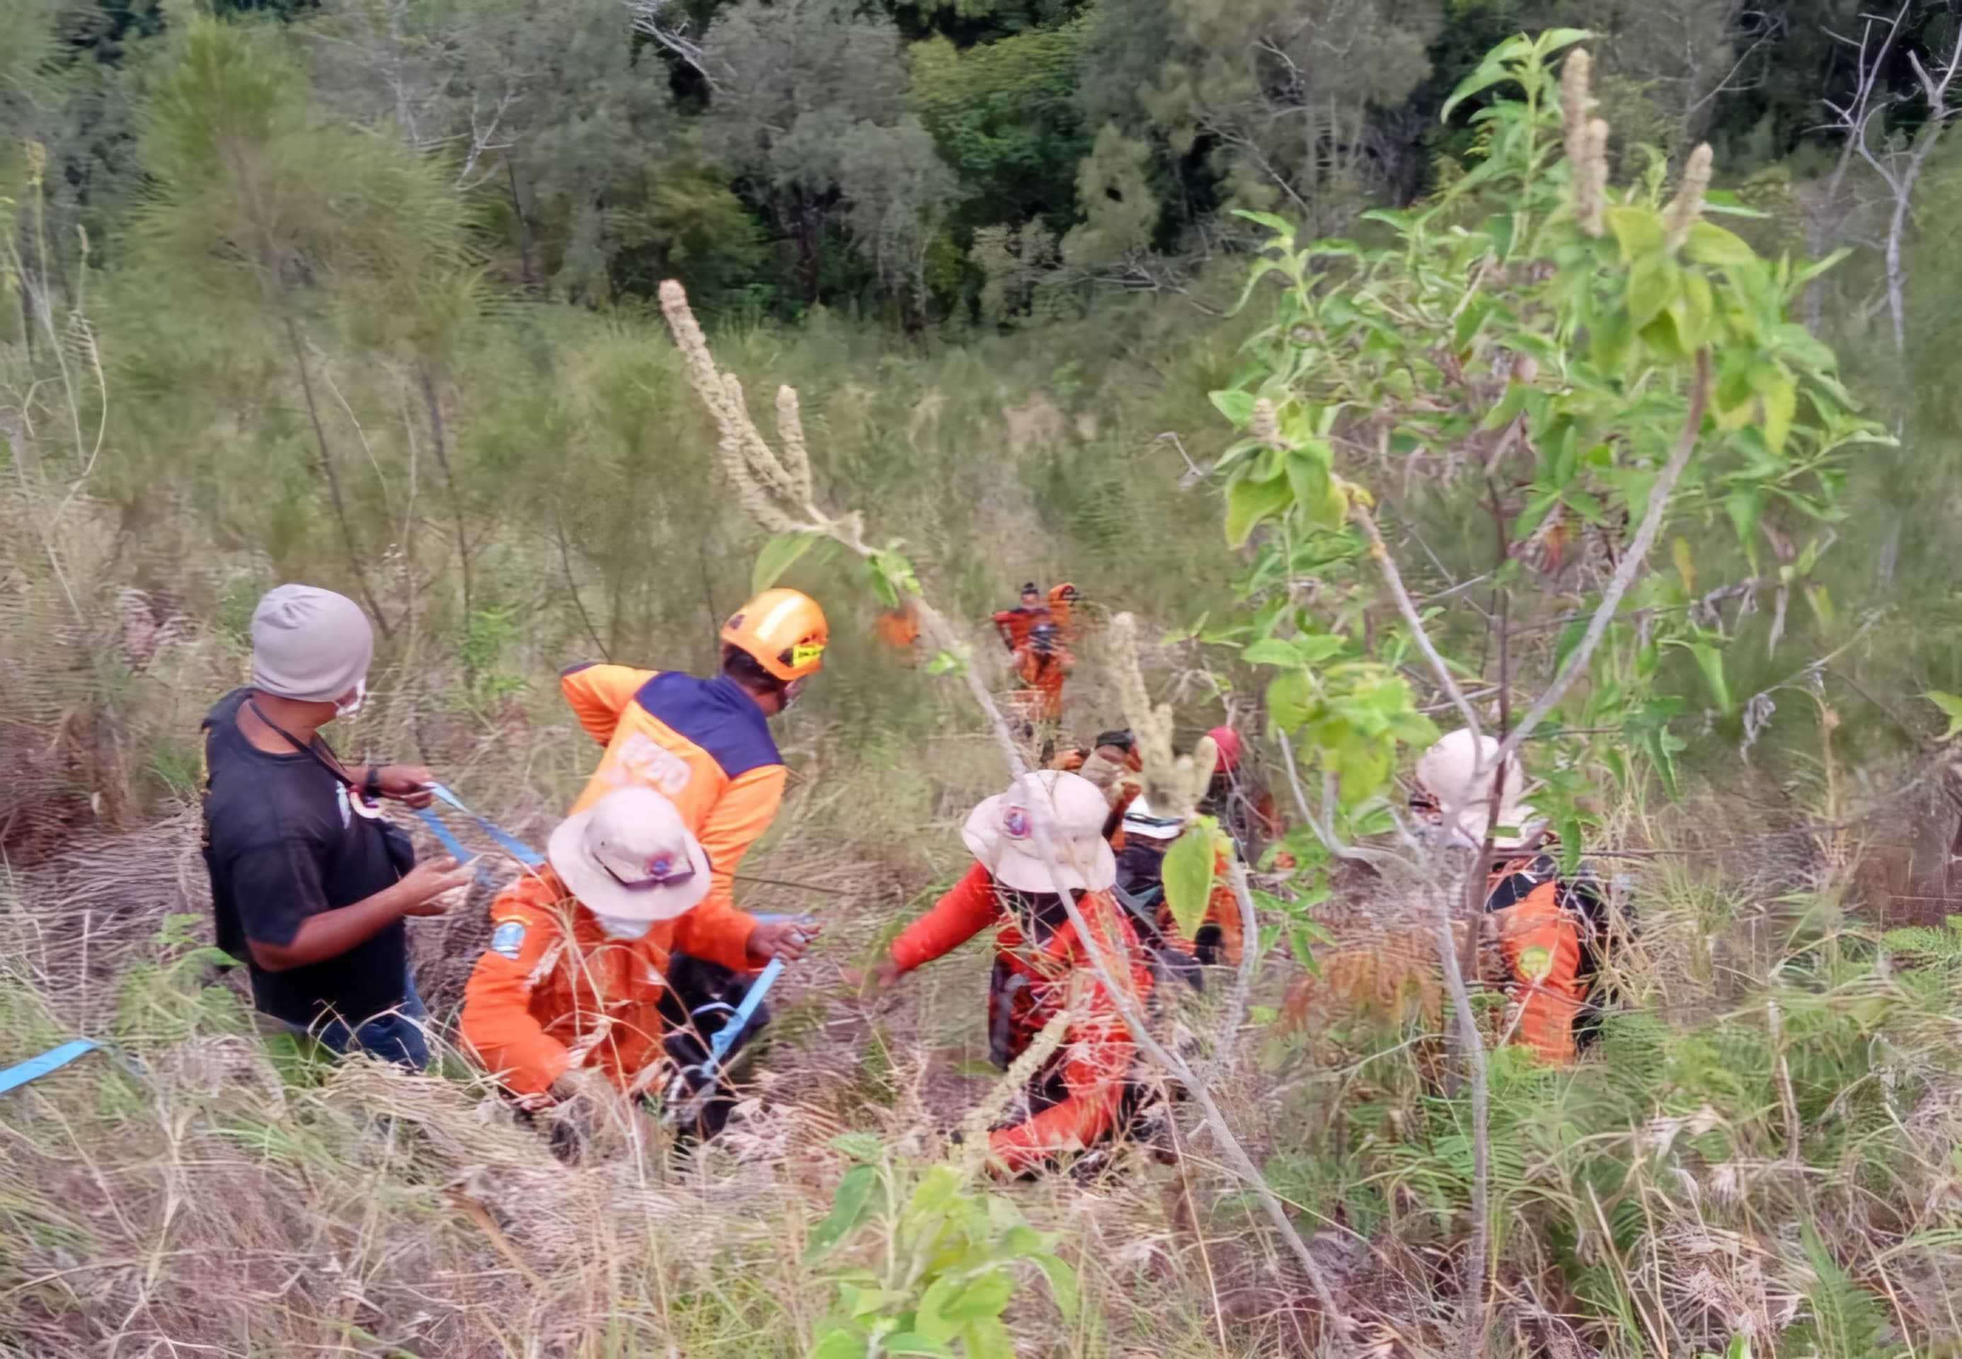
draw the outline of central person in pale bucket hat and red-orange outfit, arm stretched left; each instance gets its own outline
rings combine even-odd
[[[1056,894],[1075,896],[1097,951],[1142,1014],[1152,969],[1124,910],[1112,900],[1116,861],[1103,837],[1109,804],[1093,782],[1061,771],[1024,775],[1008,792],[973,810],[961,839],[975,865],[954,890],[906,926],[873,971],[875,986],[952,953],[995,930],[989,984],[991,1059],[1007,1069],[1059,1012],[1069,1012],[1061,1045],[1030,1081],[1022,1108],[989,1133],[989,1151],[1012,1173],[1085,1151],[1120,1135],[1140,1108],[1132,1081],[1136,1047]],[[1036,847],[1048,824],[1056,875]]]

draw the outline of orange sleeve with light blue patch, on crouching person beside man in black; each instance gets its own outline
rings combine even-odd
[[[490,947],[463,986],[463,1049],[514,1094],[543,1094],[565,1075],[565,1043],[532,1016],[545,953],[561,941],[553,902],[559,882],[526,875],[490,902]]]

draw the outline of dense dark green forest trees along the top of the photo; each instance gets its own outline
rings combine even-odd
[[[65,241],[78,226],[108,245],[153,192],[141,110],[173,14],[194,8],[8,6],[0,116],[10,155],[47,147]],[[1336,229],[1420,196],[1470,145],[1464,120],[1438,124],[1444,96],[1499,39],[1552,24],[1599,33],[1617,155],[1707,139],[1725,182],[1791,192],[1844,147],[1831,110],[1868,75],[1872,18],[1856,0],[210,8],[290,25],[312,94],[284,96],[308,122],[445,165],[516,296],[630,306],[679,277],[714,316],[824,306],[904,329],[1112,290],[1218,310],[1207,267],[1250,241],[1232,208]],[[1872,73],[1878,141],[1929,118],[1913,67],[1940,63],[1956,22],[1948,4],[1901,14]],[[1801,206],[1823,243],[1850,204]]]

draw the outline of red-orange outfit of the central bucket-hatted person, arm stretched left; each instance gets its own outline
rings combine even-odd
[[[1109,892],[1087,892],[1079,908],[1095,931],[1099,953],[1142,1010],[1152,994],[1152,969],[1124,912]],[[1008,1014],[989,1016],[991,1028],[997,1028],[997,1020],[1007,1020],[1007,1061],[1020,1057],[1059,1010],[1071,1008],[1063,1043],[1050,1061],[1050,1071],[1059,1067],[1065,1096],[1020,1124],[989,1133],[991,1151],[1010,1171],[1026,1171],[1052,1155],[1089,1147],[1114,1130],[1136,1045],[1110,992],[1097,981],[1075,926],[1063,918],[1044,937],[1030,937],[1024,924],[1003,906],[995,879],[981,865],[969,869],[952,892],[893,939],[893,963],[901,971],[912,971],[952,953],[989,926],[997,928],[995,967],[1010,973],[1008,994],[991,996],[991,1010],[999,1002],[1008,1006]],[[1075,1006],[1071,994],[1077,998]]]

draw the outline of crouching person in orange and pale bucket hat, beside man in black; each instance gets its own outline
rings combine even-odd
[[[463,1049],[530,1110],[579,1096],[587,1073],[624,1096],[667,1086],[706,1037],[669,1032],[687,1022],[671,973],[683,957],[757,965],[759,926],[716,898],[702,843],[651,788],[561,822],[545,863],[490,904],[490,945],[463,988]]]

